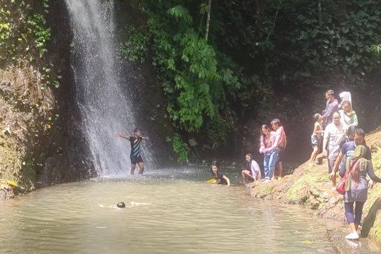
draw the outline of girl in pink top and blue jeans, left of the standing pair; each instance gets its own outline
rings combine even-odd
[[[265,179],[270,180],[273,178],[274,168],[278,159],[276,147],[271,148],[275,142],[275,132],[272,132],[270,127],[266,124],[262,125],[261,147],[259,152],[263,153],[263,166],[265,168]],[[267,149],[268,148],[268,149]]]

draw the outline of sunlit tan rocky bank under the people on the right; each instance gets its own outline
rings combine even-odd
[[[381,149],[378,149],[377,143],[379,140],[379,129],[366,137],[367,144],[372,145],[372,162],[377,176],[381,176]],[[345,221],[343,196],[336,190],[331,190],[332,183],[327,167],[326,159],[322,165],[316,167],[304,163],[282,180],[253,183],[250,194],[256,198],[305,205],[314,210],[316,215]],[[369,236],[381,245],[381,184],[375,184],[368,191],[368,200],[363,211],[362,236]]]

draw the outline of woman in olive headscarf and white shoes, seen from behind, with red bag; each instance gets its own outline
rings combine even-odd
[[[345,167],[339,171],[341,177],[344,177],[345,172],[349,174],[345,183],[344,209],[351,233],[345,236],[345,239],[359,239],[357,229],[361,221],[364,203],[368,197],[366,175],[368,174],[374,182],[381,182],[381,179],[374,174],[371,161],[365,158],[366,154],[367,148],[363,145],[358,145],[352,156],[346,159]],[[370,187],[373,187],[373,182],[370,184]],[[355,203],[354,210],[353,206]]]

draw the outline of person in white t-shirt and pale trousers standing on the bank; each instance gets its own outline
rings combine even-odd
[[[346,124],[340,121],[339,112],[334,112],[332,116],[333,122],[327,125],[323,139],[323,153],[328,157],[328,173],[330,174],[333,171],[337,156],[340,152],[339,143],[347,130]],[[333,187],[336,187],[336,174],[334,174],[334,177],[331,176],[331,180]]]

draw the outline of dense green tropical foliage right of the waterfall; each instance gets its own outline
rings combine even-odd
[[[211,8],[207,0],[132,2],[147,23],[131,28],[123,53],[149,58],[174,128],[199,133],[205,148],[238,132],[252,138],[252,119],[251,127],[273,116],[290,129],[304,124],[324,104],[325,89],[358,97],[379,89],[379,1],[223,0]]]

